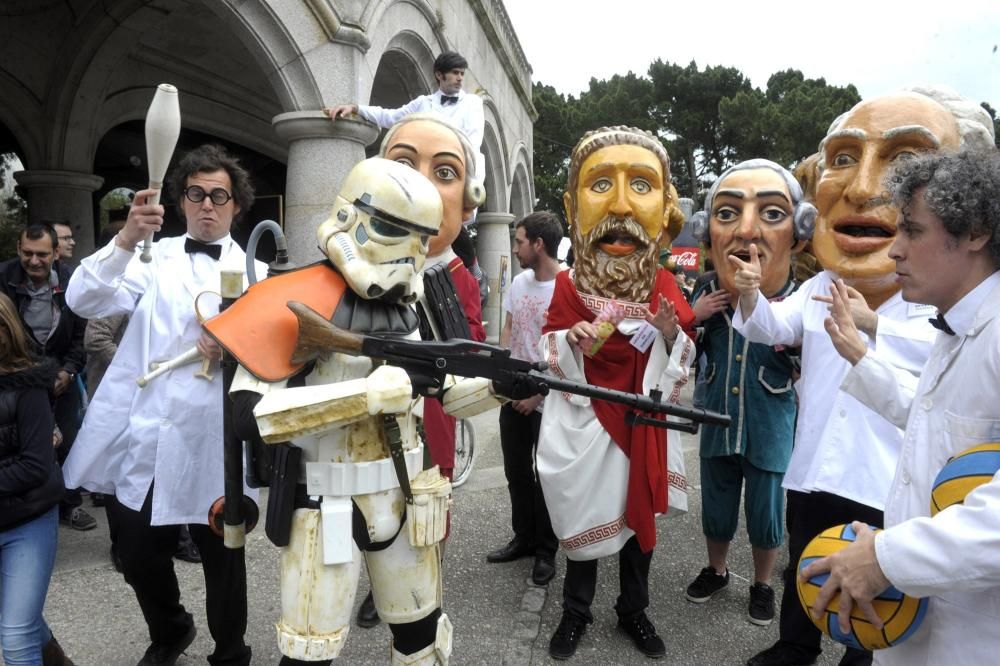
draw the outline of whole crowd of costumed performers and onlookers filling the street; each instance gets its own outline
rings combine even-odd
[[[268,280],[277,293],[308,285],[307,305],[354,333],[485,339],[486,286],[467,237],[484,200],[484,121],[482,101],[462,90],[466,67],[459,54],[442,54],[439,89],[400,109],[327,109],[332,122],[356,113],[389,132],[317,231],[328,262],[293,281]],[[754,569],[747,617],[780,623],[779,640],[751,666],[811,664],[820,654],[820,631],[797,598],[797,564],[816,534],[840,523],[853,523],[858,538],[806,570],[828,574],[811,612],[839,592],[842,625],[855,605],[878,625],[872,600],[890,585],[931,597],[909,641],[875,655],[848,647],[840,663],[989,663],[996,652],[1000,478],[929,515],[931,483],[948,458],[1000,437],[990,393],[1000,379],[993,132],[978,106],[912,89],[837,118],[802,182],[766,159],[733,166],[689,221],[715,268],[694,284],[660,262],[683,214],[670,158],[648,132],[599,128],[573,149],[564,196],[571,266],[558,259],[558,215],[536,211],[514,224],[522,271],[502,294],[499,339],[512,358],[675,403],[697,367],[699,404],[729,417],[728,426],[701,428],[707,566],[692,565],[683,594],[708,603],[729,587],[742,504]],[[455,416],[499,403],[512,537],[487,561],[531,557],[532,582],[546,586],[563,552],[562,617],[549,654],[569,659],[594,621],[598,562],[617,555],[617,626],[643,655],[664,656],[647,612],[649,572],[658,517],[688,508],[678,433],[563,391],[436,382],[340,349],[307,358],[290,353],[294,339],[261,349],[252,342],[258,324],[275,336],[297,329],[289,299],[272,312],[249,300],[264,298],[259,289],[203,326],[192,303],[246,263],[231,229],[253,205],[251,180],[224,149],[201,146],[169,182],[186,233],[157,240],[150,263],[135,250],[163,225],[163,206],[147,203],[153,190],[136,192],[106,242],[77,265],[71,227],[41,221],[21,232],[18,257],[0,264],[5,662],[72,663],[42,608],[58,525],[97,524],[82,507],[85,489],[106,509],[113,561],[149,630],[139,665],[175,663],[197,634],[181,602],[178,554],[205,572],[209,663],[251,663],[244,548],[208,518],[225,491],[227,390],[239,437],[273,456],[257,476],[271,485],[268,537],[282,547],[283,666],[337,656],[362,562],[372,591],[357,624],[387,622],[394,664],[447,663],[448,524],[427,515],[447,511]],[[807,251],[820,270],[803,280],[794,259]],[[137,385],[151,362],[189,350],[206,368],[224,355],[242,368],[225,387],[222,372]],[[350,395],[366,401],[363,413],[313,411],[308,425],[268,419],[278,403],[314,408],[302,387],[358,381],[365,388]],[[416,393],[424,399],[414,404]],[[336,395],[324,399],[347,393]],[[81,425],[84,399],[91,407]],[[384,473],[368,479],[362,468]],[[249,485],[242,491],[257,497]],[[772,576],[786,534],[779,613]],[[324,595],[311,594],[319,588]]]

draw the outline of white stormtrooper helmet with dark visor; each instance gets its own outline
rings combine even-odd
[[[316,231],[319,247],[362,298],[413,303],[427,244],[441,228],[441,196],[429,180],[398,162],[357,164]]]

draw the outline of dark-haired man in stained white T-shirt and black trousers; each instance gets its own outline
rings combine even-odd
[[[514,233],[514,255],[521,268],[504,295],[507,313],[500,346],[524,361],[541,361],[538,341],[542,337],[545,312],[552,300],[562,240],[559,218],[547,211],[531,213],[518,221]],[[510,491],[510,522],[514,538],[506,546],[486,556],[487,562],[510,562],[526,555],[535,556],[531,580],[546,585],[556,573],[555,555],[559,542],[552,532],[549,510],[535,474],[535,447],[542,425],[544,396],[513,400],[500,408],[500,448],[504,475]]]

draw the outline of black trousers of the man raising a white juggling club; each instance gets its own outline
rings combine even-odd
[[[150,487],[141,511],[133,511],[109,497],[108,516],[118,529],[118,552],[125,582],[132,586],[153,643],[173,643],[191,627],[192,617],[181,604],[174,572],[179,525],[150,525],[153,489]],[[191,538],[201,551],[205,572],[205,609],[215,652],[213,666],[248,666],[250,646],[247,630],[247,575],[243,548],[226,548],[208,525],[189,525]]]

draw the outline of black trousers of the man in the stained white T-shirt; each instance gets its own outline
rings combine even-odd
[[[559,541],[552,531],[542,485],[535,473],[535,450],[542,415],[525,416],[510,404],[500,408],[500,448],[510,492],[510,522],[514,536],[535,544],[536,557],[553,558]]]

